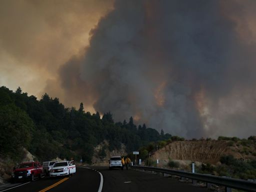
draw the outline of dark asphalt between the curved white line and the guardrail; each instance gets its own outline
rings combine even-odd
[[[130,192],[130,191],[209,191],[206,188],[194,186],[190,183],[179,182],[171,177],[149,174],[146,172],[135,171],[132,169],[113,169],[108,167],[95,167],[103,174],[104,184],[103,192]]]

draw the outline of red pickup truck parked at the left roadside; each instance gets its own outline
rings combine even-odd
[[[42,165],[37,161],[21,162],[17,167],[13,168],[12,181],[21,179],[30,179],[33,181],[36,177],[41,177]]]

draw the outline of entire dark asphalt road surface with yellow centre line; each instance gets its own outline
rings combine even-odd
[[[91,169],[93,168],[93,169]],[[102,192],[133,192],[133,191],[209,191],[206,188],[184,183],[171,177],[164,177],[133,169],[108,170],[108,167],[77,167],[76,173],[70,177],[49,178],[44,177],[33,182],[15,183],[0,191],[37,191],[37,192],[63,192],[63,191],[100,191],[100,173],[103,175]],[[102,182],[102,181],[101,181]],[[6,186],[5,186],[6,187]],[[14,188],[11,188],[14,187]],[[8,189],[10,188],[10,189]],[[7,189],[7,190],[6,190]]]

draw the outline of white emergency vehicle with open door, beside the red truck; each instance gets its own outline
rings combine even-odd
[[[76,172],[74,161],[55,162],[50,169],[50,176],[72,175]]]

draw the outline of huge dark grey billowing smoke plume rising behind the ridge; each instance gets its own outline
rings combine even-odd
[[[256,47],[248,7],[256,3],[116,0],[91,30],[84,56],[61,67],[62,86],[77,87],[115,120],[133,116],[171,134],[255,134]]]

